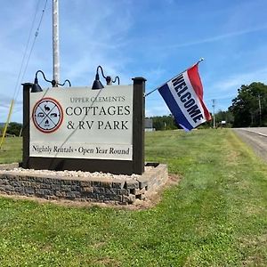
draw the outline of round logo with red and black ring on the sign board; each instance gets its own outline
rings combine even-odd
[[[63,109],[58,101],[46,97],[36,102],[32,118],[39,131],[45,134],[53,133],[61,126]]]

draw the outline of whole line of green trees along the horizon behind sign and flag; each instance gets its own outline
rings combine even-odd
[[[232,99],[228,110],[219,110],[215,113],[216,127],[248,127],[267,126],[267,85],[254,82],[250,85],[241,85],[238,95]],[[176,124],[173,115],[149,117],[153,121],[155,130],[174,130],[181,127]],[[222,122],[225,124],[222,125]],[[212,128],[213,120],[199,125],[198,128]],[[11,122],[7,127],[7,134],[19,136],[22,124]],[[3,133],[4,125],[0,126]]]

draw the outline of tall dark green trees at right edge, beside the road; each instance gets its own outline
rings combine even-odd
[[[229,111],[235,127],[267,125],[267,85],[241,85]]]

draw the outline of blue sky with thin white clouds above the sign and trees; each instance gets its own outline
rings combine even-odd
[[[93,85],[101,65],[121,85],[145,77],[149,93],[204,58],[211,112],[212,100],[215,112],[227,110],[241,85],[267,84],[266,0],[59,0],[59,9],[61,83]],[[53,79],[52,10],[53,0],[1,0],[0,122],[12,99],[11,121],[22,122],[20,84],[38,69]],[[170,114],[158,91],[145,109],[146,117]]]

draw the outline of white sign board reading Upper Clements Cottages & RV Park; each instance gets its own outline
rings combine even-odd
[[[133,85],[30,93],[29,157],[133,159]]]

